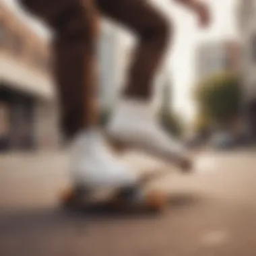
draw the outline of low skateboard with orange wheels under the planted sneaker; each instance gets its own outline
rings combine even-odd
[[[148,210],[161,212],[168,202],[168,195],[160,189],[146,189],[146,186],[159,179],[168,171],[146,172],[141,174],[137,185],[121,189],[103,189],[92,191],[71,185],[59,195],[61,205],[75,210],[84,206],[105,205],[112,210]]]

